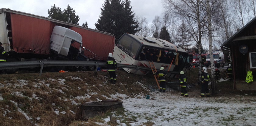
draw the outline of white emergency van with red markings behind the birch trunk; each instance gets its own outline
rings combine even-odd
[[[222,51],[213,51],[213,59],[214,59],[215,67],[217,67],[217,68],[219,68],[220,66],[224,67],[225,60],[224,60],[224,54]],[[206,64],[205,65],[207,65],[207,66],[211,65],[209,53],[206,56]]]

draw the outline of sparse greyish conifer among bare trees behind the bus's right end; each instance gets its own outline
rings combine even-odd
[[[189,43],[191,39],[189,37],[188,31],[189,30],[187,29],[184,21],[182,21],[181,25],[178,28],[178,36],[176,38],[176,42],[178,43],[178,46],[183,49],[187,49],[191,46],[191,44]]]

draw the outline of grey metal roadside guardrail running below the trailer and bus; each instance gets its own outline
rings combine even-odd
[[[106,66],[105,62],[98,61],[17,61],[17,62],[2,62],[0,63],[0,70],[3,69],[16,69],[16,68],[33,68],[40,67],[39,76],[41,76],[43,67],[52,67],[52,66],[95,66],[95,71],[98,67]],[[130,68],[135,70],[151,71],[151,68],[137,66],[137,65],[127,65],[127,64],[117,64],[119,68]],[[136,72],[137,72],[136,71]],[[179,72],[168,72],[177,74]]]

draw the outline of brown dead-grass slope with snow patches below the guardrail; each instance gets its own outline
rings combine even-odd
[[[188,82],[197,83],[197,72],[190,71]],[[43,73],[40,77],[38,73],[0,75],[0,125],[70,125],[81,119],[81,103],[106,100],[114,94],[136,98],[138,94],[158,90],[152,76],[128,74],[123,70],[116,74],[114,85],[108,82],[108,73],[102,71]],[[167,80],[170,81],[177,79]],[[230,82],[219,84],[219,94],[213,97],[245,93],[234,91]],[[167,90],[172,89],[167,86]],[[198,96],[200,87],[190,88],[188,92],[190,96]]]

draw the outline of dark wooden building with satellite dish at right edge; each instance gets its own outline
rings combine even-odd
[[[222,50],[231,52],[234,89],[256,90],[256,17],[226,40]],[[245,82],[248,70],[254,82]]]

